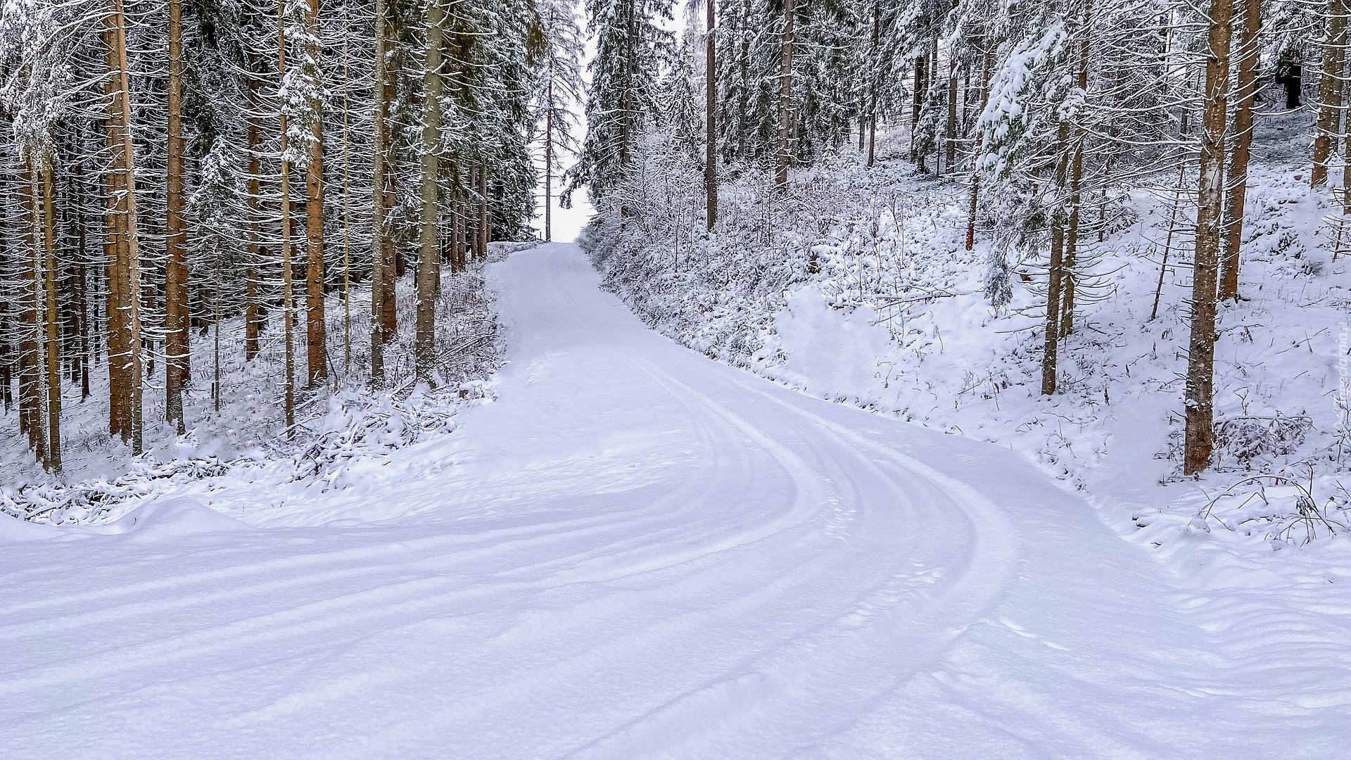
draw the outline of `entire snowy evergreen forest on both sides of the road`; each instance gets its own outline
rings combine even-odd
[[[326,295],[370,288],[378,384],[393,284],[413,277],[428,368],[442,265],[549,238],[549,203],[531,227],[540,187],[565,203],[585,187],[623,218],[635,157],[662,150],[701,177],[688,193],[716,230],[720,181],[784,188],[844,147],[871,165],[880,126],[905,127],[921,172],[969,188],[967,249],[992,227],[1044,245],[1046,394],[1079,241],[1135,177],[1196,168],[1198,472],[1216,308],[1243,289],[1254,110],[1282,107],[1256,85],[1298,88],[1301,69],[1317,85],[1310,180],[1328,184],[1351,154],[1346,19],[1342,0],[7,0],[0,400],[51,471],[63,398],[107,394],[109,430],[139,452],[143,394],[181,431],[205,361],[190,333],[242,318],[249,356],[282,335],[290,425],[297,388],[353,372]]]

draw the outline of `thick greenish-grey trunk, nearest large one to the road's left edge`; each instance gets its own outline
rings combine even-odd
[[[440,35],[444,11],[438,0],[427,5],[427,61],[423,73],[422,230],[417,249],[417,377],[431,379],[436,361],[436,270],[440,234],[436,179],[440,173]]]

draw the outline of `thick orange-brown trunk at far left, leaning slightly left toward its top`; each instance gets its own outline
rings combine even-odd
[[[109,395],[116,399],[113,431],[131,444],[131,453],[141,456],[141,249],[136,233],[135,151],[131,141],[131,72],[127,66],[127,23],[122,0],[109,0],[104,16],[104,41],[108,47],[108,93],[111,95],[105,130],[112,153],[109,161],[108,199],[109,235],[113,239],[116,300],[109,291],[108,365]],[[118,312],[116,319],[112,318]]]

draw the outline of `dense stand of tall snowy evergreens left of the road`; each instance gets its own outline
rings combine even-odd
[[[5,3],[0,402],[38,460],[61,469],[63,394],[107,394],[132,453],[145,394],[182,433],[190,334],[239,318],[246,358],[284,334],[292,425],[297,389],[358,372],[358,285],[378,384],[405,272],[430,371],[442,264],[528,235],[534,153],[567,145],[577,23],[532,0]]]

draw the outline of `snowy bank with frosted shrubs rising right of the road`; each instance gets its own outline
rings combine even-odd
[[[635,224],[612,214],[584,245],[608,285],[677,341],[816,395],[1019,450],[1161,556],[1204,564],[1197,557],[1221,549],[1260,563],[1273,548],[1306,545],[1332,553],[1313,560],[1327,567],[1351,549],[1342,487],[1351,450],[1337,400],[1351,279],[1346,257],[1333,258],[1327,191],[1308,189],[1306,166],[1263,157],[1263,131],[1275,145],[1289,120],[1259,123],[1244,300],[1220,316],[1220,448],[1200,480],[1179,476],[1193,222],[1186,201],[1174,211],[1174,195],[1158,189],[1177,184],[1175,169],[1150,180],[1155,189],[1113,199],[1109,233],[1089,241],[1050,398],[1039,392],[1044,252],[1001,239],[997,208],[982,210],[977,246],[965,250],[965,183],[917,174],[896,157],[900,141],[884,143],[874,169],[851,154],[804,169],[785,197],[771,199],[763,176],[724,185],[713,235],[697,218]],[[647,211],[667,204],[653,177],[697,180],[680,162],[648,162],[643,188],[624,201],[678,219]],[[1000,269],[1009,276],[992,279]],[[994,291],[1008,284],[1000,308],[992,280]],[[1196,550],[1174,552],[1183,546]]]

